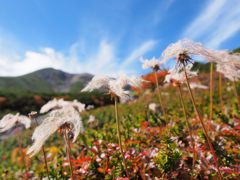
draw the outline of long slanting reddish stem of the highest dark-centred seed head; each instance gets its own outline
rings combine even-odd
[[[218,158],[217,158],[217,156],[215,154],[215,151],[213,149],[211,139],[210,139],[210,137],[208,135],[208,132],[207,132],[207,128],[205,127],[204,122],[202,120],[202,117],[201,117],[201,115],[200,115],[200,113],[199,113],[199,111],[197,109],[197,106],[196,106],[196,103],[195,103],[195,99],[194,99],[194,96],[193,96],[193,93],[192,93],[192,90],[191,90],[191,87],[190,87],[190,84],[189,84],[189,79],[188,79],[188,75],[187,75],[185,66],[183,66],[183,68],[184,68],[184,73],[185,73],[185,77],[186,77],[186,83],[187,83],[188,91],[189,91],[189,94],[190,94],[190,97],[191,97],[191,101],[192,101],[192,104],[193,104],[193,107],[194,107],[194,111],[195,111],[196,116],[197,116],[197,118],[199,119],[199,121],[200,121],[200,123],[202,125],[203,132],[204,132],[204,134],[206,136],[208,146],[209,146],[210,151],[211,151],[211,153],[213,155],[214,163],[215,163],[215,166],[217,168],[218,178],[222,180],[223,177],[222,177],[222,174],[221,174],[220,169],[219,169]]]

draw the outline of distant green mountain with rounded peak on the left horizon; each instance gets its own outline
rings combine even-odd
[[[0,91],[59,93],[79,92],[93,75],[70,74],[46,68],[18,77],[0,77]]]

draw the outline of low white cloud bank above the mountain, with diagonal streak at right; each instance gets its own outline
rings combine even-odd
[[[129,67],[123,66],[132,64],[139,56],[151,50],[155,44],[154,40],[144,42],[130,52],[130,55],[122,62],[115,56],[115,47],[105,40],[101,41],[97,50],[90,54],[87,54],[87,51],[84,54],[78,53],[85,48],[81,43],[73,44],[67,53],[46,47],[39,51],[26,51],[22,58],[12,53],[3,54],[0,51],[0,76],[18,76],[47,67],[70,73],[88,72],[113,76],[120,73],[132,73]]]

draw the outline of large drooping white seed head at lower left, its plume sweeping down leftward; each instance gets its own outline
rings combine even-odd
[[[62,109],[51,111],[43,122],[35,129],[32,135],[33,145],[28,149],[30,157],[36,155],[46,142],[46,140],[64,124],[71,126],[74,134],[73,142],[76,141],[79,133],[83,133],[81,117],[72,106],[65,106]]]

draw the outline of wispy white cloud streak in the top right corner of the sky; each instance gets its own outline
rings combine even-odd
[[[238,0],[211,0],[185,29],[183,37],[219,48],[240,30],[240,4]]]

